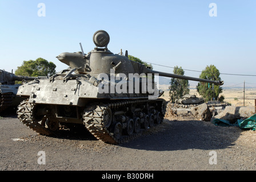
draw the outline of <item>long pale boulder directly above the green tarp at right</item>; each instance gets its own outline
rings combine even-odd
[[[253,114],[255,114],[255,107],[226,106],[225,110],[211,118],[211,121],[214,119],[225,119],[230,123],[235,123],[237,119],[249,118]]]

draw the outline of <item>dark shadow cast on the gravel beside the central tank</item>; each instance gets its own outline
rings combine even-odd
[[[241,132],[238,127],[215,126],[211,122],[165,119],[155,130],[120,146],[147,151],[218,150],[233,146]]]

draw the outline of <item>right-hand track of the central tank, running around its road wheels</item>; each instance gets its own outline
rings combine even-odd
[[[105,143],[111,144],[120,144],[129,142],[129,140],[137,138],[142,134],[143,129],[141,129],[138,133],[133,133],[131,135],[122,135],[121,138],[116,138],[114,132],[111,131],[111,127],[107,128],[105,126],[105,114],[104,112],[107,109],[118,109],[118,107],[130,106],[131,104],[142,104],[146,105],[147,103],[158,102],[161,104],[161,109],[158,111],[161,113],[161,122],[163,120],[163,115],[165,114],[164,102],[163,99],[157,100],[134,100],[134,101],[119,101],[107,104],[93,104],[89,107],[86,107],[85,112],[83,114],[83,123],[86,126],[86,129],[90,131],[91,134],[94,135],[98,140],[102,140]],[[161,103],[162,102],[162,103]],[[146,113],[148,114],[148,113]],[[113,120],[113,119],[112,119]]]

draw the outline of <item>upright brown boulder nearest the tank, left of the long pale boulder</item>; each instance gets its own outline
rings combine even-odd
[[[211,111],[206,103],[201,105],[191,107],[191,113],[197,119],[201,119],[203,121],[210,121],[211,120]]]

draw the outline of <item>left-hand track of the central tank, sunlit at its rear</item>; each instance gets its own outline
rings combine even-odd
[[[52,131],[47,129],[45,126],[41,125],[41,123],[37,122],[33,116],[33,103],[27,102],[27,100],[22,101],[21,104],[18,106],[17,114],[19,120],[29,127],[30,129],[34,130],[35,132],[41,135],[55,135]]]

